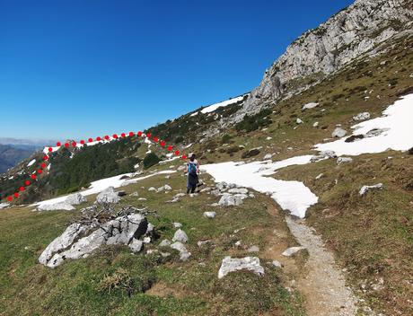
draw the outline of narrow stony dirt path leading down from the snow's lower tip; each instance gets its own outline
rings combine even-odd
[[[298,290],[305,295],[309,316],[354,316],[356,296],[346,286],[346,280],[336,267],[334,257],[326,250],[320,236],[303,221],[286,216],[286,223],[298,241],[309,252],[305,268],[308,273],[299,277]]]

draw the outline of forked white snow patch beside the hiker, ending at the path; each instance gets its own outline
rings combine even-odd
[[[306,164],[312,155],[297,156],[280,162],[237,162],[213,163],[201,166],[216,182],[233,183],[237,186],[268,193],[279,206],[292,215],[303,218],[308,207],[317,203],[318,198],[300,181],[276,180],[266,177],[275,171],[294,164]]]

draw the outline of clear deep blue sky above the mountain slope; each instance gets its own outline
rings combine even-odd
[[[259,84],[350,0],[0,0],[0,136],[138,130]]]

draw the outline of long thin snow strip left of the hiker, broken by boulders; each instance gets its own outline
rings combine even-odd
[[[172,171],[172,170],[158,171],[158,172],[154,172],[152,174],[149,174],[149,175],[144,176],[144,177],[139,177],[139,178],[133,178],[133,176],[136,175],[135,173],[119,174],[119,176],[93,181],[91,183],[91,187],[89,189],[86,189],[86,190],[84,190],[82,192],[79,192],[79,193],[82,194],[83,197],[91,196],[92,194],[101,193],[101,191],[103,191],[104,189],[107,189],[109,187],[113,187],[113,188],[116,189],[116,188],[127,186],[128,184],[131,184],[131,183],[136,183],[140,180],[145,180],[147,178],[154,177],[154,176],[159,175],[159,174],[170,174],[170,173],[174,173],[174,172],[176,172],[176,171]],[[131,177],[131,178],[130,179],[120,179],[124,176]],[[38,202],[38,203],[34,203],[31,206],[46,206],[46,205],[52,205],[52,204],[64,202],[68,196],[69,195],[44,200],[44,201],[41,201],[41,202]]]

